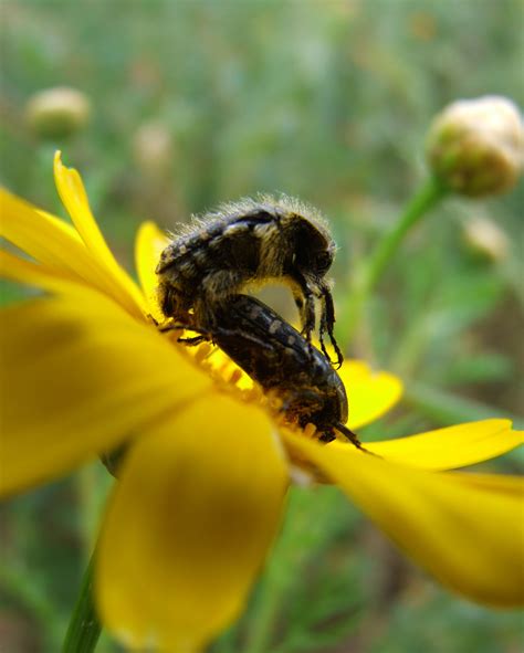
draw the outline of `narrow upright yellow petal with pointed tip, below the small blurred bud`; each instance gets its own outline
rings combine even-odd
[[[120,303],[132,314],[146,313],[147,307],[142,293],[113,256],[93,218],[87,193],[78,172],[74,168],[66,168],[60,156],[60,151],[57,151],[54,158],[56,189],[85,246],[119,287]]]

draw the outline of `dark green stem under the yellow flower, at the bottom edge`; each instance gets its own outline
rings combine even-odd
[[[102,625],[93,601],[93,570],[94,556],[91,558],[82,580],[62,653],[92,653],[96,649]]]

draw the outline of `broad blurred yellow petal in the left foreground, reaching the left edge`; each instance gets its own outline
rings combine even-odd
[[[153,327],[82,289],[3,310],[2,494],[140,433],[210,387]]]

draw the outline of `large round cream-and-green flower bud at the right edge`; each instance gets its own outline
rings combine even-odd
[[[481,197],[512,188],[524,164],[524,127],[509,99],[485,96],[450,104],[433,120],[427,154],[451,190]]]

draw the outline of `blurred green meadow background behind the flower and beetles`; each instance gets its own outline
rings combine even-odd
[[[338,339],[406,382],[401,407],[364,439],[518,414],[522,185],[433,211],[404,243],[350,344],[344,299],[425,179],[432,116],[484,94],[522,106],[520,0],[2,0],[0,11],[4,186],[63,214],[52,180],[60,147],[129,270],[145,219],[168,229],[256,191],[298,196],[328,217],[339,245]],[[69,137],[43,138],[29,124],[28,102],[63,85],[86,95],[91,119]],[[474,244],[480,218],[500,230],[499,249]],[[6,302],[30,292],[2,288]],[[522,466],[516,452],[482,468]],[[60,650],[109,485],[93,464],[0,507],[2,653]],[[293,489],[249,610],[212,651],[513,653],[523,645],[521,614],[440,589],[323,487]],[[119,649],[104,636],[98,650]]]

